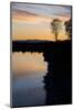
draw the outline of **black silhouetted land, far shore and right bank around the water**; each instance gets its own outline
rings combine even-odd
[[[72,103],[71,41],[12,42],[12,52],[43,52],[44,61],[49,64],[43,80],[46,91],[45,106]]]

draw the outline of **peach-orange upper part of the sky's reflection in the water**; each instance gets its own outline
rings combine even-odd
[[[29,75],[31,72],[46,72],[47,63],[43,53],[13,53],[12,70],[17,75]]]

